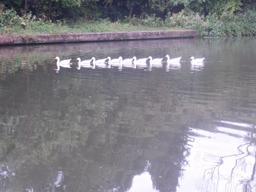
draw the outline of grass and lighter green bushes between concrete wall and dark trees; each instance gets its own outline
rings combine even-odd
[[[0,20],[0,34],[65,34],[124,31],[156,31],[196,29],[201,36],[253,36],[256,34],[256,19],[242,14],[218,19],[215,15],[207,17],[199,14],[185,14],[183,11],[167,15],[163,20],[155,15],[126,17],[116,22],[110,19],[57,20],[55,23],[38,19],[31,14],[19,17],[9,10]]]

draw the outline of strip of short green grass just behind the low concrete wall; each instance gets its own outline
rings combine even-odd
[[[26,25],[26,26],[25,26]],[[0,27],[0,34],[67,34],[67,33],[99,33],[99,32],[129,32],[129,31],[159,31],[173,30],[174,28],[152,27],[146,25],[134,26],[128,23],[111,23],[108,21],[88,23],[75,22],[64,23],[33,21],[27,22],[24,26]]]

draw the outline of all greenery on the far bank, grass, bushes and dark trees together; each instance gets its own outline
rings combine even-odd
[[[4,0],[0,34],[196,29],[201,36],[256,34],[252,0]]]

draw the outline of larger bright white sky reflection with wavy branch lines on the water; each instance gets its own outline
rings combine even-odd
[[[238,123],[236,123],[238,124]],[[191,129],[188,166],[180,178],[180,191],[253,191],[255,144],[246,131],[216,127],[217,133]]]

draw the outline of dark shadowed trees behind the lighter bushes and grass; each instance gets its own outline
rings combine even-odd
[[[62,18],[111,18],[115,21],[125,16],[155,14],[165,18],[167,13],[196,12],[201,15],[216,14],[221,19],[235,12],[246,12],[255,5],[253,0],[3,0],[7,9],[17,14],[32,12],[45,20]]]

